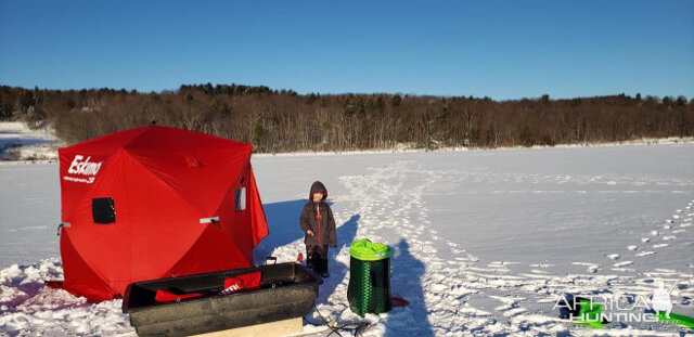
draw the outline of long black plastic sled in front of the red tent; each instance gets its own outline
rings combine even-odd
[[[259,271],[260,287],[219,295],[224,280]],[[172,302],[157,302],[157,290],[202,294]],[[301,317],[318,297],[318,277],[299,263],[278,263],[128,285],[123,312],[139,336],[189,336]]]

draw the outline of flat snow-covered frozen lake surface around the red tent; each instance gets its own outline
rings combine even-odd
[[[304,251],[300,207],[314,180],[329,189],[339,244],[317,302],[323,315],[361,320],[347,302],[349,243],[391,246],[393,294],[410,306],[368,314],[368,336],[691,332],[625,320],[587,329],[554,306],[567,294],[647,297],[664,281],[672,311],[694,315],[694,144],[258,156],[253,165],[270,225],[257,263]],[[119,300],[89,304],[42,285],[62,273],[59,222],[57,165],[0,166],[0,336],[133,336]],[[314,312],[307,320],[321,323]]]

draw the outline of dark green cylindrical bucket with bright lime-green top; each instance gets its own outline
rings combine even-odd
[[[360,316],[390,311],[390,248],[358,239],[349,247],[349,308]]]

